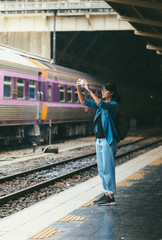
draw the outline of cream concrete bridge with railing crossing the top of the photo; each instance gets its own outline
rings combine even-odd
[[[95,0],[0,2],[0,32],[130,30],[105,2]]]

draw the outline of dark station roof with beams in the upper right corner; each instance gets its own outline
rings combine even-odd
[[[106,0],[119,13],[119,20],[128,21],[135,34],[143,36],[146,48],[162,54],[161,0]]]

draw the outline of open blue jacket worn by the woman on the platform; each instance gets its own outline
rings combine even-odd
[[[85,98],[83,105],[97,109],[93,124],[94,133],[97,133],[97,118],[101,113],[102,127],[108,144],[111,144],[114,138],[119,142],[118,132],[114,126],[114,121],[119,111],[119,104],[114,100],[110,102],[100,100],[99,104],[97,104],[95,101]]]

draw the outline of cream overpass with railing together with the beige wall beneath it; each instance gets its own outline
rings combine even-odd
[[[50,57],[52,32],[108,30],[133,27],[119,21],[117,13],[102,0],[0,2],[0,43],[44,57]]]

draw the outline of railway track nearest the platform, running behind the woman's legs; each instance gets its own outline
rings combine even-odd
[[[120,159],[122,157],[125,157],[127,155],[130,155],[130,154],[132,154],[136,151],[139,151],[141,149],[150,147],[151,145],[157,144],[157,143],[162,141],[161,138],[159,138],[157,140],[154,140],[154,141],[150,141],[150,142],[145,142],[145,140],[147,140],[147,138],[143,138],[142,140],[140,139],[138,141],[134,141],[134,142],[131,142],[131,143],[128,143],[128,144],[120,145],[120,149],[122,149],[122,148],[127,148],[127,149],[125,150],[125,152],[122,152],[122,153],[120,153],[118,151],[118,153],[116,155],[116,160]],[[140,146],[139,146],[139,144],[140,144]],[[132,145],[134,145],[133,148],[132,148]],[[129,149],[130,146],[131,146],[132,149]],[[94,157],[94,156],[95,156],[95,153],[91,153],[91,154],[83,155],[83,156],[80,156],[80,157],[77,157],[77,158],[71,158],[71,159],[64,160],[64,161],[61,161],[61,162],[56,162],[54,164],[50,164],[50,165],[47,165],[47,166],[35,168],[35,169],[29,170],[29,171],[25,171],[25,172],[17,173],[17,174],[14,174],[14,175],[6,176],[6,177],[3,177],[3,178],[0,178],[0,187],[2,187],[3,184],[6,185],[6,183],[8,181],[11,181],[15,178],[21,178],[21,177],[24,177],[24,176],[29,177],[30,174],[45,171],[45,170],[49,170],[51,168],[53,169],[54,167],[56,168],[56,167],[61,166],[61,165],[65,166],[65,164],[69,164],[69,163],[71,163],[71,165],[74,165],[74,163],[78,160],[81,160],[81,162],[83,162],[83,159],[89,158],[89,157]],[[32,183],[32,186],[29,186],[29,187],[26,187],[26,188],[21,189],[19,191],[12,192],[10,194],[2,196],[0,198],[0,204],[5,204],[5,203],[7,203],[11,200],[13,201],[13,200],[18,199],[22,196],[25,196],[29,193],[33,193],[34,191],[37,191],[37,190],[40,190],[42,188],[48,187],[49,185],[52,185],[55,182],[62,181],[63,179],[70,178],[75,174],[79,174],[81,172],[84,172],[86,170],[91,169],[92,167],[96,167],[96,165],[97,164],[96,164],[96,161],[95,161],[93,163],[89,163],[88,165],[86,164],[85,166],[78,167],[77,169],[72,169],[71,171],[69,171],[67,173],[60,174],[57,177],[52,177],[52,179],[45,180],[43,182],[41,181],[40,183],[37,183],[37,184],[34,184],[34,185]],[[19,182],[19,185],[20,185],[20,180],[18,180],[18,182]]]

